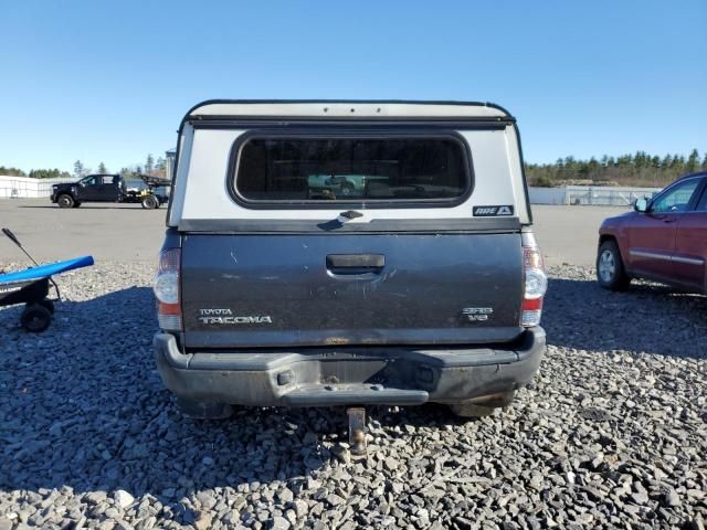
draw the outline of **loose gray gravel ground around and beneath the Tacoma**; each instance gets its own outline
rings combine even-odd
[[[61,276],[40,336],[0,310],[0,530],[690,528],[707,520],[707,299],[551,271],[540,375],[504,413],[180,416],[155,370],[151,266]]]

